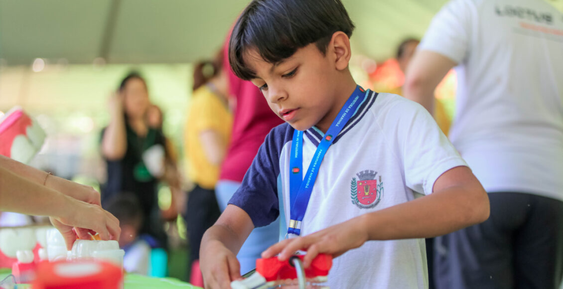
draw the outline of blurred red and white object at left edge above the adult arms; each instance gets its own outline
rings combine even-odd
[[[0,118],[0,154],[18,162],[29,163],[45,140],[39,123],[19,106]]]

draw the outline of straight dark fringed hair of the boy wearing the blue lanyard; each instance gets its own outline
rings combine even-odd
[[[310,43],[325,54],[335,32],[351,37],[353,30],[340,0],[253,0],[231,33],[229,63],[236,76],[252,79],[256,75],[243,59],[249,48],[265,61],[279,63]]]

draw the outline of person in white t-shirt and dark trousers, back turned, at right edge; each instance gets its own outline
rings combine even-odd
[[[563,274],[563,16],[540,0],[453,0],[405,81],[430,112],[456,66],[450,140],[489,193],[485,223],[437,240],[438,288],[558,288]]]

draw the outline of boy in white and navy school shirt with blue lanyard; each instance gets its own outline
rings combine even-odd
[[[207,288],[240,278],[236,252],[279,214],[289,239],[262,257],[283,261],[305,250],[308,266],[331,254],[327,285],[338,289],[426,288],[424,240],[414,238],[487,219],[485,191],[431,115],[356,85],[348,70],[353,29],[338,0],[254,0],[239,17],[231,67],[287,123],[266,137],[204,235]]]

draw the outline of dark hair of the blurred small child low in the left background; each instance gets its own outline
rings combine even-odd
[[[143,214],[136,195],[131,193],[114,195],[105,204],[105,210],[119,220],[120,226],[131,225],[137,230],[141,228]]]

